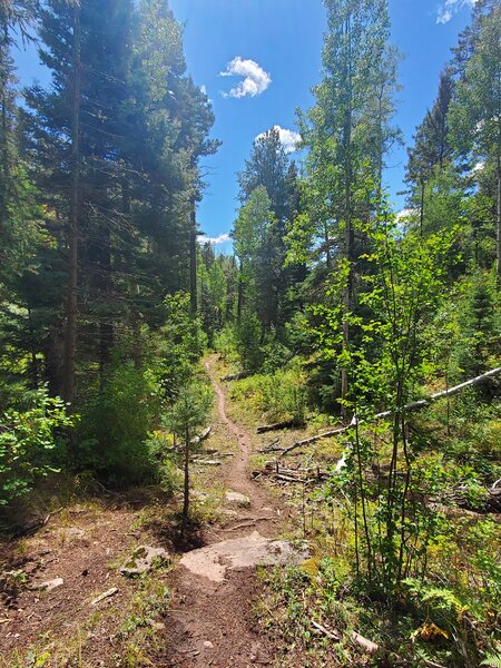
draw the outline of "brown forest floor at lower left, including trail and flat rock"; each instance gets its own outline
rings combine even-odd
[[[179,541],[173,502],[168,508],[153,493],[57,509],[33,536],[0,544],[1,668],[277,665],[275,642],[256,616],[259,582],[249,564],[255,546],[278,562],[297,562],[304,552],[266,541],[283,534],[294,511],[252,480],[256,441],[227,415],[215,364],[206,363],[217,397],[210,443],[230,456],[195,472],[199,529],[189,544]],[[168,550],[169,564],[125,578],[120,566],[144,544]],[[216,577],[202,574],[207,563]],[[58,586],[40,589],[50,581]],[[109,596],[96,602],[102,593]]]

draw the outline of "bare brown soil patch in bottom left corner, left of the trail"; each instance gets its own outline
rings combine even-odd
[[[47,648],[52,639],[62,645],[67,639],[68,655],[70,645],[85,644],[86,665],[116,665],[100,661],[107,660],[107,650],[112,654],[109,638],[117,625],[114,610],[125,607],[134,592],[134,582],[121,577],[118,567],[135,546],[147,540],[132,528],[136,519],[137,510],[128,504],[76,507],[55,515],[36,536],[7,547],[1,570],[22,570],[28,581],[18,590],[8,587],[0,599],[0,666],[18,665],[13,658],[17,652],[23,657],[29,647]],[[61,587],[52,591],[37,589],[56,578],[62,578]],[[116,595],[91,606],[96,597],[114,587],[118,588]],[[101,620],[92,637],[78,638],[95,612]],[[48,651],[52,655],[52,648]],[[66,652],[58,649],[55,654],[59,658],[49,665],[65,666]]]

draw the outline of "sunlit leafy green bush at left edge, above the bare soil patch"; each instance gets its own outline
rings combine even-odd
[[[0,416],[0,505],[27,494],[38,478],[57,472],[57,434],[76,421],[65,403],[50,399],[45,389],[26,411],[10,410]]]

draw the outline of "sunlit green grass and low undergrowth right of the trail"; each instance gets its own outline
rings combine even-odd
[[[253,392],[261,392],[258,385],[246,379],[230,386],[228,412],[249,430],[263,419],[261,397],[253,401]],[[445,488],[466,485],[473,504],[482,502],[481,485],[492,484],[501,475],[500,411],[499,402],[479,409],[475,397],[465,396],[452,402],[449,430],[445,405],[435,404],[415,419],[414,438],[423,442],[419,454],[422,468],[433,465]],[[307,433],[317,433],[327,425],[320,415],[311,416],[308,422]],[[274,435],[254,435],[256,449]],[[305,433],[276,435],[286,448]],[[283,463],[320,463],[325,470],[338,461],[344,448],[342,440],[322,440]],[[377,436],[376,449],[379,463],[384,465],[390,453],[385,434]],[[262,468],[274,459],[274,453],[255,454],[253,466]],[[396,600],[390,601],[371,598],[353,577],[353,507],[347,497],[335,488],[317,488],[310,489],[303,500],[302,485],[286,485],[283,493],[289,507],[296,509],[293,533],[308,539],[313,562],[321,566],[310,573],[277,569],[262,576],[261,623],[274,637],[278,635],[278,651],[285,647],[291,655],[279,656],[277,666],[298,657],[304,666],[376,665],[376,659],[353,646],[350,630],[384,647],[387,665],[403,656],[409,666],[429,661],[473,668],[485,657],[501,652],[501,524],[495,515],[481,518],[460,509],[452,509],[450,517],[439,514],[441,524],[428,549],[425,581],[418,588],[410,581]],[[369,512],[374,511],[371,501]],[[341,629],[342,641],[333,644],[315,635],[312,619],[327,629]]]

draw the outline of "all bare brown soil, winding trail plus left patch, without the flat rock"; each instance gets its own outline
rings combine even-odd
[[[214,376],[212,361],[206,367],[217,395],[216,436],[219,442],[238,445],[235,456],[214,472],[214,479],[226,490],[248,497],[250,507],[233,505],[234,514],[195,533],[189,549],[246,537],[256,530],[274,538],[285,513],[278,500],[250,479],[250,435],[227,416],[225,394]],[[239,668],[273,662],[273,644],[259,630],[254,612],[258,596],[255,569],[227,571],[225,581],[213,582],[183,566],[174,574],[159,571],[155,576],[171,591],[170,610],[161,619],[164,626],[156,625],[154,647],[147,651],[156,658],[134,664],[124,659],[117,632],[125,617],[134,612],[132,597],[140,582],[121,577],[119,566],[138,544],[178,552],[176,531],[159,519],[165,507],[160,502],[144,505],[155,517],[149,527],[138,522],[140,502],[110,498],[66,509],[53,514],[35,536],[0,543],[0,572],[22,570],[28,577],[18,588],[6,589],[3,583],[0,668],[35,665],[35,659],[26,662],[30,648],[35,648],[37,659],[47,651],[50,659],[37,665],[50,668]],[[56,578],[62,578],[63,586],[50,592],[37,589]],[[91,605],[111,588],[118,592],[98,606]]]

